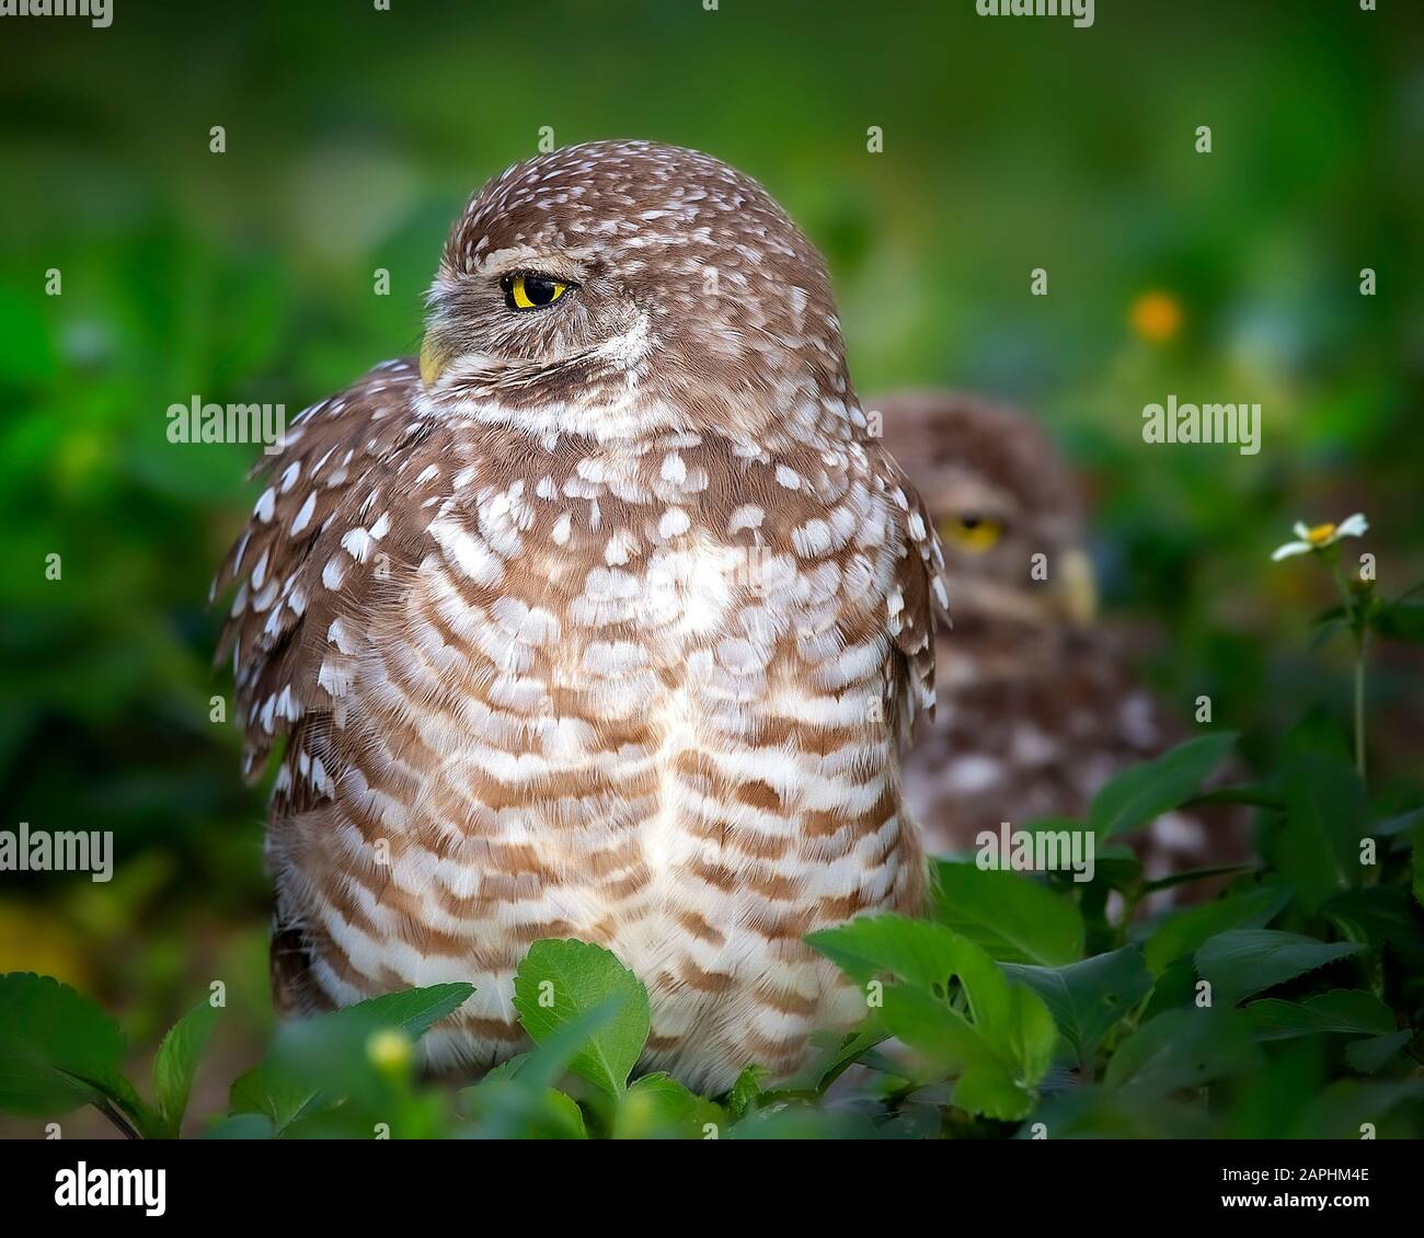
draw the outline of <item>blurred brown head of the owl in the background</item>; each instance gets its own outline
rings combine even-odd
[[[951,644],[1004,624],[1047,628],[1092,618],[1082,503],[1030,417],[953,392],[897,392],[870,409],[934,514],[951,584]]]

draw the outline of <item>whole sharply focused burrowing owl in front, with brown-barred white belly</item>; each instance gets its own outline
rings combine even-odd
[[[520,1049],[540,937],[652,999],[646,1067],[778,1074],[857,994],[802,937],[913,910],[899,748],[941,560],[867,435],[820,255],[693,151],[518,164],[456,222],[419,366],[308,409],[219,574],[296,1007],[471,980]]]

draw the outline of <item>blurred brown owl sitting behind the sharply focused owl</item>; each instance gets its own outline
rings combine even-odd
[[[1092,625],[1082,500],[1027,416],[975,396],[904,392],[869,407],[934,514],[953,581],[938,635],[938,711],[904,796],[928,852],[1000,822],[1084,816],[1114,774],[1188,738]],[[1038,560],[1035,571],[1035,556]],[[1245,855],[1239,813],[1172,812],[1129,839],[1148,878]]]

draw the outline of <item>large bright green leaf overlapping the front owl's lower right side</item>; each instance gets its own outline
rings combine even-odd
[[[1007,1121],[1030,1113],[1058,1031],[1042,999],[1010,983],[980,946],[900,916],[852,920],[806,940],[857,984],[886,973],[899,982],[879,994],[880,1020],[927,1064],[958,1076],[956,1106]]]

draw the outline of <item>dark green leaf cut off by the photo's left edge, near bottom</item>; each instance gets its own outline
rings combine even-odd
[[[124,1033],[98,1003],[53,976],[0,976],[0,1110],[60,1117],[132,1094]]]

